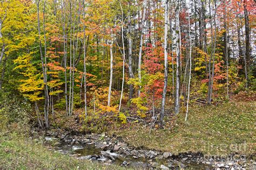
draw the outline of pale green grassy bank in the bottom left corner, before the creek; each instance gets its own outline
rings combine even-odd
[[[22,134],[0,133],[0,169],[120,169],[50,151],[42,141]]]

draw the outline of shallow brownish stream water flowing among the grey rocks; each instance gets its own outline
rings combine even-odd
[[[152,162],[156,162],[157,167],[160,167],[160,165],[165,165],[166,167],[171,167],[171,169],[213,169],[211,165],[197,164],[195,162],[181,163],[171,159],[157,160],[154,158],[133,158],[131,155],[124,155],[122,153],[117,153],[117,157],[110,159],[109,157],[106,157],[104,154],[102,154],[104,151],[95,147],[94,144],[78,144],[71,146],[69,143],[62,142],[56,145],[55,149],[60,153],[76,155],[78,159],[89,159],[92,161],[102,162],[103,164],[108,163],[121,166],[124,166],[125,164],[126,166],[132,168],[150,169],[152,168]]]

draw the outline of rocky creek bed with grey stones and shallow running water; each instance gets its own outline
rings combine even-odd
[[[102,134],[72,135],[69,132],[44,133],[44,140],[53,144],[55,152],[77,159],[116,164],[141,169],[256,169],[256,162],[235,154],[226,158],[206,158],[201,153],[159,152],[134,148],[121,138]]]

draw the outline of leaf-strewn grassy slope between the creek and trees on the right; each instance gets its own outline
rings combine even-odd
[[[189,110],[188,121],[181,112],[174,128],[152,130],[135,126],[118,130],[127,143],[150,150],[203,152],[204,154],[255,154],[256,102],[197,105]]]

